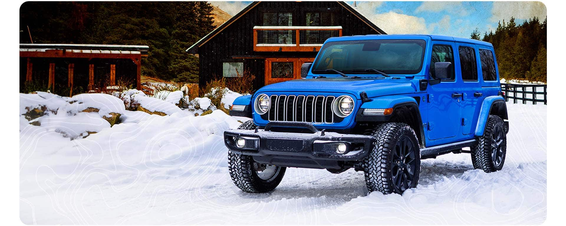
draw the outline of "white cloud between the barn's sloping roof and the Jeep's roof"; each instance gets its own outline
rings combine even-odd
[[[375,25],[388,34],[426,34],[428,30],[423,18],[389,11],[384,14],[367,15]]]

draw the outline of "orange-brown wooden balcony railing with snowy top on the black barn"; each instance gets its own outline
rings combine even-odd
[[[254,51],[319,51],[330,37],[342,36],[342,26],[255,26]]]

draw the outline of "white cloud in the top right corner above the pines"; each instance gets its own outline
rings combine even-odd
[[[491,8],[491,21],[529,19],[537,16],[539,20],[546,18],[546,6],[542,2],[494,2]]]

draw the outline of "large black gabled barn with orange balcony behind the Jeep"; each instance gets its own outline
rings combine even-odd
[[[254,88],[300,77],[329,37],[385,34],[345,2],[253,2],[186,51],[199,85],[251,73]]]

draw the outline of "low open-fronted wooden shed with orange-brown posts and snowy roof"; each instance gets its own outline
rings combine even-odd
[[[68,95],[120,81],[141,90],[141,58],[148,46],[20,44],[20,92],[26,82]],[[67,93],[65,92],[67,95]]]

